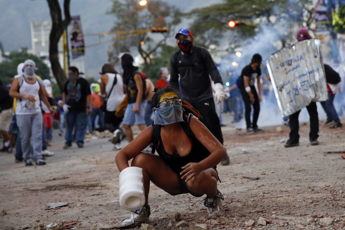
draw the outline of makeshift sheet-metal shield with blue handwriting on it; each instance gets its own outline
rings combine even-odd
[[[266,60],[273,90],[283,117],[328,99],[320,40],[297,42]]]

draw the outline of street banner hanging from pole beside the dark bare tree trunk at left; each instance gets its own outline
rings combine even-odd
[[[81,29],[80,16],[72,16],[69,24],[69,40],[71,45],[72,59],[84,56],[85,44],[83,31]]]

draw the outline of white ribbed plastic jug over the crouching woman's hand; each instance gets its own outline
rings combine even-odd
[[[134,211],[145,204],[142,168],[128,167],[119,175],[120,206],[127,211]]]

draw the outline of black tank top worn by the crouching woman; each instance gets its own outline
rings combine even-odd
[[[167,153],[164,149],[163,142],[160,136],[160,125],[153,125],[154,129],[152,131],[152,143],[156,147],[156,150],[158,152],[158,155],[165,161],[165,163],[168,164],[168,166],[177,174],[180,174],[180,172],[183,171],[182,167],[185,166],[188,163],[195,162],[198,163],[208,156],[210,156],[210,152],[203,146],[200,141],[195,137],[192,130],[189,127],[190,119],[192,115],[189,114],[188,119],[183,116],[184,122],[181,122],[182,128],[185,131],[187,137],[190,139],[192,148],[187,156],[174,156],[169,153]],[[158,133],[159,132],[159,133]],[[153,140],[154,136],[158,137],[159,135],[159,142]],[[157,146],[158,145],[158,146]]]

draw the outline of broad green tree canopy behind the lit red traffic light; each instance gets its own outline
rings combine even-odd
[[[239,41],[253,37],[260,31],[262,22],[271,26],[277,33],[282,33],[281,37],[284,40],[286,36],[291,35],[289,31],[293,22],[302,24],[306,21],[310,24],[313,14],[311,2],[311,0],[225,0],[221,4],[190,11],[188,15],[194,19],[190,29],[196,38],[196,44],[205,47],[217,44],[229,31],[233,31],[229,40],[234,40],[236,36],[239,37]],[[270,16],[274,16],[275,20],[271,21]],[[245,21],[246,24],[231,29],[228,26],[231,20]],[[274,28],[275,24],[278,25],[276,28]]]

